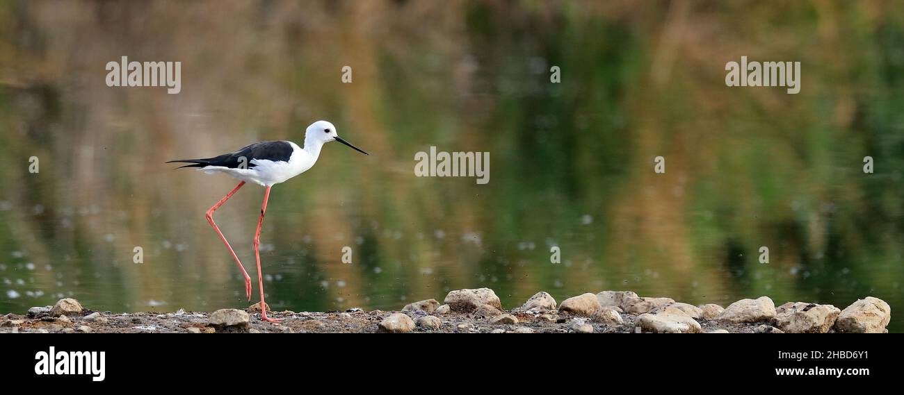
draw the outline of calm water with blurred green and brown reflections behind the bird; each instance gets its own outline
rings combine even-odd
[[[478,287],[504,308],[606,289],[722,306],[904,302],[904,31],[891,16],[853,33],[870,7],[829,5],[844,8],[845,39],[813,45],[787,39],[812,27],[800,15],[776,26],[701,10],[670,19],[682,41],[660,42],[657,23],[636,21],[666,9],[328,4],[0,5],[0,312],[62,297],[111,311],[247,306],[203,217],[235,181],[163,162],[301,142],[321,118],[372,155],[327,144],[273,188],[261,236],[273,308],[400,309]],[[730,47],[703,28],[739,21],[755,34]],[[669,58],[669,45],[682,50]],[[725,87],[725,62],[758,53],[802,61],[801,93]],[[123,55],[182,61],[182,92],[107,87],[104,65]],[[490,152],[490,182],[415,177],[430,146]],[[252,302],[262,198],[242,188],[215,216]]]

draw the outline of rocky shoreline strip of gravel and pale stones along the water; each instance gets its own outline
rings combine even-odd
[[[410,303],[394,311],[352,308],[332,312],[271,311],[279,324],[259,319],[260,304],[212,313],[120,313],[83,308],[75,299],[0,316],[5,333],[888,333],[891,308],[858,299],[844,309],[772,299],[741,299],[726,308],[693,306],[632,291],[585,293],[560,304],[538,292],[504,310],[493,289],[457,289],[443,303]]]

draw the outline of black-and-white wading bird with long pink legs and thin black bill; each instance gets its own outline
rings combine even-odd
[[[208,174],[226,173],[241,180],[239,185],[232,188],[230,193],[226,194],[217,204],[207,210],[207,222],[211,223],[213,229],[220,235],[220,239],[226,244],[226,248],[229,249],[232,258],[235,258],[235,262],[239,264],[241,274],[245,276],[245,293],[248,294],[249,301],[251,300],[251,278],[248,276],[248,271],[245,271],[245,267],[242,266],[235,251],[232,251],[232,246],[226,241],[226,237],[223,236],[220,228],[213,222],[213,212],[220,208],[223,203],[226,203],[226,200],[235,194],[246,182],[253,182],[265,188],[264,204],[260,207],[258,230],[254,233],[254,257],[258,261],[258,286],[260,288],[260,318],[265,321],[279,321],[277,318],[267,317],[267,305],[264,302],[264,280],[260,272],[260,225],[263,224],[264,213],[267,211],[267,199],[270,196],[270,188],[314,167],[314,163],[320,156],[320,149],[326,142],[342,142],[352,147],[355,151],[367,155],[367,152],[363,152],[358,147],[339,138],[333,124],[326,121],[317,121],[307,127],[305,148],[299,147],[295,142],[255,142],[239,151],[224,153],[212,158],[166,162],[191,163],[178,169],[198,168]]]

